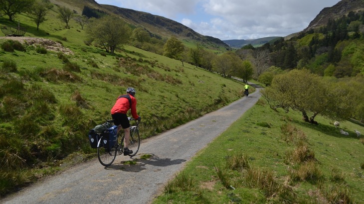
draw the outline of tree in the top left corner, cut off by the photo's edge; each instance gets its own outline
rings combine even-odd
[[[10,21],[14,21],[15,15],[26,12],[34,0],[0,0],[0,10],[7,16]]]

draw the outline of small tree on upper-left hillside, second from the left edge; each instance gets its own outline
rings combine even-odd
[[[44,22],[45,15],[47,15],[48,11],[53,7],[53,4],[50,3],[49,0],[35,0],[34,4],[31,6],[29,10],[29,14],[32,20],[37,25],[37,30],[39,29],[40,23]]]

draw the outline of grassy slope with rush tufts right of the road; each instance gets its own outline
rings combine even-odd
[[[364,125],[302,120],[260,99],[201,150],[153,203],[362,204]]]

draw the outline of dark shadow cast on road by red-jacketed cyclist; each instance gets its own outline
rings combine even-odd
[[[120,163],[114,163],[108,167],[105,167],[106,170],[121,170],[126,172],[140,172],[146,170],[146,165],[151,166],[159,166],[166,167],[170,165],[181,164],[185,162],[184,159],[175,159],[171,160],[170,158],[160,158],[154,154],[146,154],[151,155],[148,159],[136,158],[131,161],[122,161]],[[157,170],[158,171],[158,170]]]

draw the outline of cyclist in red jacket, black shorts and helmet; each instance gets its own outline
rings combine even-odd
[[[137,114],[137,100],[134,98],[136,91],[134,88],[128,88],[126,95],[121,95],[115,102],[113,108],[111,108],[111,116],[114,119],[114,124],[118,126],[118,133],[121,128],[124,129],[124,155],[132,154],[133,151],[128,149],[130,138],[130,122],[127,116],[127,112],[131,109],[131,113],[134,119],[140,121],[141,117]],[[128,141],[128,142],[127,142]]]

